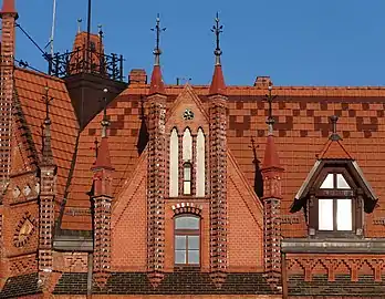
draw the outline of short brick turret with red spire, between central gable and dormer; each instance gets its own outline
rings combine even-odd
[[[272,116],[272,86],[269,85],[268,138],[264,150],[263,167],[263,235],[264,235],[264,272],[272,287],[281,285],[281,178],[283,168],[280,164],[273,136],[274,118]]]

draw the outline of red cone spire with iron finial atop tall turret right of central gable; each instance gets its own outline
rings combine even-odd
[[[211,31],[216,35],[216,42],[217,47],[216,50],[214,51],[214,54],[216,55],[216,64],[214,69],[214,74],[212,74],[212,81],[209,90],[209,95],[215,95],[215,94],[221,94],[226,95],[226,84],[225,84],[225,79],[223,79],[223,73],[222,73],[222,66],[220,63],[220,56],[222,54],[222,50],[220,50],[220,33],[223,32],[223,25],[219,24],[219,14],[217,12],[217,17],[215,19],[216,24],[212,25]]]

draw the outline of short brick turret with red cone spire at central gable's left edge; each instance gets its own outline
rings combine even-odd
[[[107,90],[104,89],[104,93]],[[97,156],[91,171],[93,177],[93,210],[94,210],[94,281],[100,288],[107,282],[111,271],[111,205],[113,200],[112,183],[114,168],[111,164],[107,127],[110,122],[106,113],[107,100],[104,97],[102,140]]]

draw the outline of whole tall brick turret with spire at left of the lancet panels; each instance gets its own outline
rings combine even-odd
[[[164,277],[165,267],[165,193],[166,193],[166,91],[160,71],[160,28],[156,19],[155,63],[149,84],[148,111],[148,168],[147,168],[147,271],[148,279],[156,287]]]

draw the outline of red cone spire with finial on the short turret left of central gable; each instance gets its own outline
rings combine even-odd
[[[108,90],[104,89],[104,93],[107,93]],[[114,169],[111,164],[110,150],[108,150],[108,136],[107,136],[107,127],[110,126],[110,121],[107,118],[107,100],[104,96],[104,109],[103,109],[103,120],[101,122],[102,125],[102,140],[100,142],[100,146],[97,148],[97,156],[94,165],[92,166],[92,171],[97,171],[101,168],[104,169]]]

